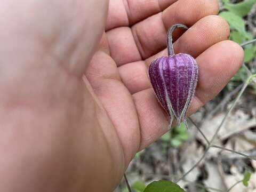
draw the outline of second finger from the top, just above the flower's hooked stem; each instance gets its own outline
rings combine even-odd
[[[111,57],[117,66],[146,59],[166,47],[166,29],[170,26],[175,23],[192,26],[199,19],[218,11],[217,0],[179,0],[131,28],[107,31]],[[174,39],[178,35],[174,33]]]

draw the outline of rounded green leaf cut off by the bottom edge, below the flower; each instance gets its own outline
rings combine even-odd
[[[171,181],[159,180],[151,182],[144,192],[185,192],[185,190]]]

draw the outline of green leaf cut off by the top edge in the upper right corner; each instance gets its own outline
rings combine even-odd
[[[228,1],[223,1],[223,8],[229,10],[230,12],[238,15],[239,17],[246,16],[252,9],[252,6],[256,3],[256,0],[244,0],[240,3],[229,3]]]

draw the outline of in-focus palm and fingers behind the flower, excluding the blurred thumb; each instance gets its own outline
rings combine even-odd
[[[110,1],[106,34],[86,76],[115,126],[126,163],[167,131],[167,116],[151,89],[148,66],[167,54],[171,25],[190,27],[174,50],[192,55],[199,66],[188,114],[218,94],[241,66],[242,49],[226,41],[229,27],[217,13],[218,1],[212,0]]]

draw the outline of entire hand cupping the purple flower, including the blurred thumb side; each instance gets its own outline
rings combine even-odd
[[[0,13],[2,191],[113,191],[167,131],[147,70],[174,23],[190,27],[175,53],[200,71],[189,115],[243,60],[217,0],[1,0]]]

